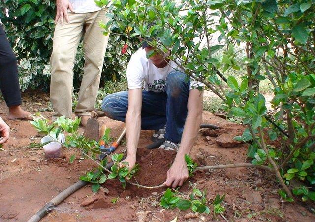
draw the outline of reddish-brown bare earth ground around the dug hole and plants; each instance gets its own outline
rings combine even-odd
[[[47,94],[25,96],[24,107],[31,112],[43,111],[47,107]],[[51,118],[52,112],[42,112]],[[0,221],[25,222],[53,197],[78,181],[78,178],[95,165],[90,160],[80,160],[77,156],[69,162],[73,151],[63,148],[61,158],[46,160],[40,147],[30,146],[38,143],[40,137],[27,121],[8,120],[7,107],[0,102],[0,116],[11,128],[10,140],[0,151]],[[111,136],[116,138],[124,127],[118,121],[107,117],[99,118],[100,126],[111,128]],[[199,133],[191,151],[192,158],[200,165],[220,165],[246,162],[247,145],[223,148],[215,141],[221,133],[241,135],[244,127],[228,122],[209,112],[204,112],[203,123],[218,125],[221,130],[213,136]],[[83,129],[80,129],[82,132]],[[139,141],[137,161],[140,171],[136,176],[139,184],[153,186],[162,184],[166,171],[176,153],[163,150],[147,150],[152,131],[142,131]],[[126,151],[126,143],[118,148],[117,153]],[[249,160],[247,161],[249,162]],[[116,180],[106,181],[103,188],[94,194],[91,185],[81,188],[59,204],[43,222],[104,222],[104,221],[279,221],[312,222],[314,214],[301,204],[286,203],[277,195],[279,184],[274,175],[255,168],[231,168],[197,172],[194,177],[179,190],[189,194],[191,187],[207,190],[209,202],[217,194],[226,194],[224,218],[213,214],[192,214],[191,211],[178,209],[164,210],[159,203],[159,196],[165,188],[147,190],[127,184],[124,190]],[[107,193],[108,190],[108,193]],[[117,198],[115,204],[112,199]],[[94,200],[85,207],[83,201]],[[309,206],[311,203],[307,203]],[[310,208],[310,207],[309,207]],[[314,208],[314,206],[313,206]]]

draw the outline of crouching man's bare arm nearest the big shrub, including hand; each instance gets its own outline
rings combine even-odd
[[[188,97],[188,115],[186,118],[181,145],[175,157],[174,163],[167,171],[166,186],[177,187],[183,185],[188,178],[188,169],[185,162],[185,154],[189,154],[193,147],[202,120],[203,91],[192,89]]]

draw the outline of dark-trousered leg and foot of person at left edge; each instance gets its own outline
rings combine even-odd
[[[9,108],[8,119],[32,120],[32,114],[21,108],[17,59],[0,19],[0,89]]]

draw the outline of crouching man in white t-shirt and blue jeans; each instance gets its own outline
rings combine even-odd
[[[157,51],[143,41],[127,66],[128,91],[104,98],[102,109],[111,119],[126,122],[127,157],[129,168],[136,164],[140,130],[155,130],[152,140],[164,139],[159,147],[176,150],[176,158],[167,171],[166,186],[183,185],[188,178],[185,154],[193,147],[202,119],[202,83],[189,79]],[[144,87],[144,90],[142,89]]]

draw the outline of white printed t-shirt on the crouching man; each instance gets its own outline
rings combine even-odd
[[[174,61],[163,68],[156,67],[147,59],[145,49],[140,48],[132,54],[127,66],[128,88],[139,89],[144,86],[146,91],[164,92],[167,74],[173,70],[181,71]],[[190,79],[190,89],[198,86],[204,84]]]

